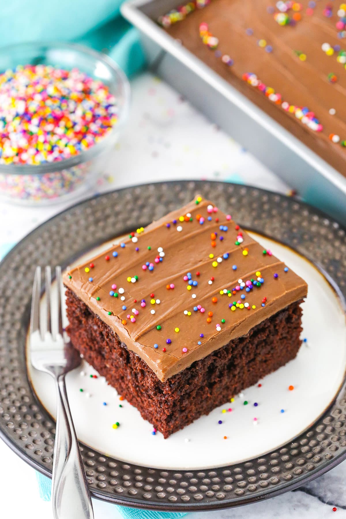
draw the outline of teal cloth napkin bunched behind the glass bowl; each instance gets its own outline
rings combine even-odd
[[[56,40],[109,54],[131,76],[145,64],[139,35],[120,15],[123,0],[11,0],[3,2],[0,46]]]

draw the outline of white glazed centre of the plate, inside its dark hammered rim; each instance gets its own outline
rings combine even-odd
[[[250,234],[309,285],[303,304],[302,337],[307,342],[296,359],[260,380],[260,388],[256,385],[246,389],[234,402],[214,409],[167,440],[160,433],[153,435],[153,427],[137,409],[120,401],[103,377],[90,378],[97,373],[83,362],[66,377],[81,442],[101,453],[147,467],[204,469],[230,465],[275,449],[307,429],[325,411],[343,382],[346,368],[346,326],[340,301],[305,258],[268,238]],[[90,251],[76,264],[108,246]],[[326,369],[328,363],[330,369]],[[28,371],[37,397],[56,417],[53,380],[31,366]],[[290,385],[294,390],[288,390]],[[117,429],[112,427],[115,422],[120,424]]]

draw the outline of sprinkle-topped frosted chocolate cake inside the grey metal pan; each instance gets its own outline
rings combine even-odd
[[[206,8],[198,12],[198,7]],[[187,15],[191,16],[187,19]],[[176,24],[180,21],[183,23]],[[342,40],[346,38],[346,3],[192,2],[161,17],[159,23],[186,49],[344,173],[346,49]],[[203,46],[210,49],[215,62]],[[319,56],[321,46],[329,63],[323,53]],[[275,114],[257,94],[240,86],[241,78],[287,116]],[[335,116],[334,120],[330,115]],[[293,120],[308,131],[295,131]],[[338,146],[332,149],[328,141]]]

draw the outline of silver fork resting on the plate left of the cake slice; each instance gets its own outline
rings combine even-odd
[[[30,319],[30,356],[36,370],[52,375],[57,388],[52,506],[54,519],[93,519],[90,491],[68,405],[65,375],[80,364],[62,325],[61,268],[56,268],[57,295],[51,293],[51,270],[45,270],[46,309],[40,311],[41,269],[36,268]],[[54,301],[55,299],[55,301]]]

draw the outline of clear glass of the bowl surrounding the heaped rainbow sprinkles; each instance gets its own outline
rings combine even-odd
[[[86,151],[57,162],[0,165],[0,198],[30,205],[66,201],[92,188],[114,148],[130,103],[130,85],[118,65],[105,54],[77,44],[27,43],[0,49],[0,73],[17,65],[77,68],[107,85],[118,103],[118,120],[100,141]]]

